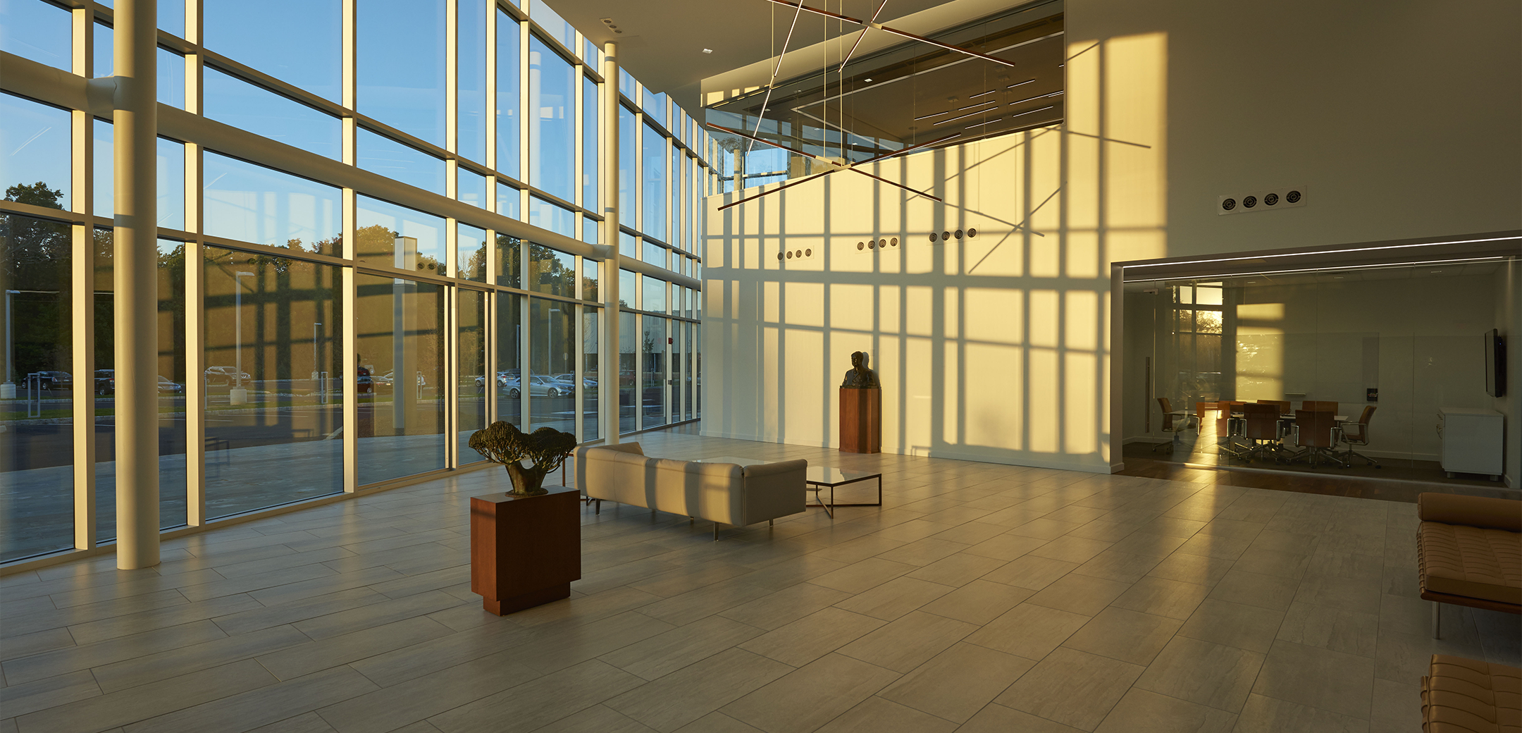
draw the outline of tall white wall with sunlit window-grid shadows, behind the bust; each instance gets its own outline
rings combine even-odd
[[[709,198],[703,431],[833,445],[864,349],[884,451],[1111,469],[1111,262],[1522,229],[1516,27],[1522,3],[1068,0],[1064,130],[872,171],[945,204],[851,172]],[[1309,206],[1215,213],[1280,184]]]

